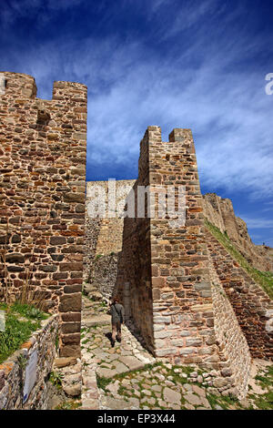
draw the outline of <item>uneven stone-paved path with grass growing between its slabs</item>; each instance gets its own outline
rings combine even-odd
[[[95,321],[96,322],[95,322]],[[82,409],[99,410],[235,410],[256,408],[252,395],[238,402],[209,384],[216,374],[156,360],[122,327],[122,341],[110,344],[111,322],[102,302],[84,298],[82,321]],[[253,376],[258,367],[254,367]],[[268,363],[264,362],[264,367]],[[256,370],[256,372],[255,372]],[[268,369],[267,369],[268,370]],[[272,393],[272,392],[271,392]],[[252,398],[251,398],[252,397]]]

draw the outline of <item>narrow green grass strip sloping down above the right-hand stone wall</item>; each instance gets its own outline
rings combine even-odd
[[[228,238],[227,233],[222,233],[216,226],[211,224],[205,219],[206,228],[212,235],[225,247],[227,252],[238,261],[238,264],[247,271],[248,275],[257,282],[262,289],[273,299],[273,273],[262,272],[261,270],[253,268],[248,263],[248,260],[235,248],[231,240]]]

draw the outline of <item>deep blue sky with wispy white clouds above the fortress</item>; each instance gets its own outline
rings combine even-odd
[[[190,127],[203,193],[273,247],[273,4],[1,0],[0,70],[88,86],[87,179],[136,178],[147,126]]]

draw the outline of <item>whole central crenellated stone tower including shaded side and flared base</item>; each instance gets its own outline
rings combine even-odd
[[[211,384],[244,396],[248,343],[207,251],[190,129],[163,142],[160,127],[147,128],[133,190],[116,287],[126,313],[155,356],[214,370]]]

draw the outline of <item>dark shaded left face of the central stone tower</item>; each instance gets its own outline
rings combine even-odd
[[[147,349],[155,352],[150,220],[147,203],[142,218],[137,216],[137,189],[149,185],[149,146],[145,137],[140,143],[138,178],[134,184],[134,217],[124,219],[122,251],[117,267],[116,294],[124,302],[126,319],[134,322]],[[126,207],[127,209],[127,207]]]

